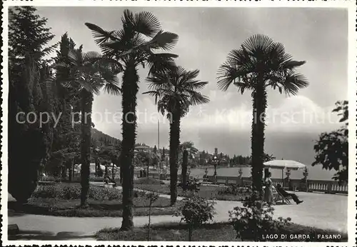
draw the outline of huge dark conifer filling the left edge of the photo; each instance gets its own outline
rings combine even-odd
[[[9,8],[9,193],[25,202],[36,188],[38,171],[46,163],[52,141],[51,122],[24,116],[51,111],[51,95],[46,79],[50,76],[45,59],[54,46],[47,20],[32,6]],[[21,114],[23,113],[23,114]],[[21,114],[21,115],[18,115]],[[17,119],[16,119],[17,118]]]

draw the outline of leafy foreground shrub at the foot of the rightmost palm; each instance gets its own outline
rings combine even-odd
[[[262,241],[263,236],[278,232],[279,229],[290,224],[291,218],[280,217],[278,221],[274,221],[273,211],[273,207],[258,200],[256,191],[251,191],[251,195],[245,199],[243,207],[237,206],[228,213],[237,238]]]

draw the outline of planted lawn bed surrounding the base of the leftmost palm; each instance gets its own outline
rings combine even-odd
[[[39,215],[66,217],[120,217],[122,216],[121,191],[116,188],[90,186],[89,207],[79,208],[80,185],[56,183],[38,186],[28,203],[9,202],[9,210]],[[144,193],[135,193],[134,216],[148,216],[149,200]],[[152,215],[172,215],[176,211],[169,198],[159,198],[151,208]]]

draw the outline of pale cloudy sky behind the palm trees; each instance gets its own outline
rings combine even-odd
[[[90,22],[112,31],[121,29],[121,7],[38,7],[56,35],[53,42],[68,32],[84,51],[100,51]],[[162,29],[178,34],[178,44],[170,52],[178,54],[176,63],[187,70],[199,69],[198,79],[208,81],[202,94],[210,103],[191,107],[181,121],[181,141],[193,141],[200,150],[250,155],[251,93],[243,95],[233,86],[228,91],[217,87],[218,67],[232,49],[239,49],[253,34],[266,34],[281,42],[286,52],[306,64],[298,72],[309,86],[297,96],[288,97],[268,90],[266,153],[277,158],[313,162],[313,144],[318,134],[339,126],[334,104],[347,97],[348,13],[346,9],[303,8],[129,8],[150,11]],[[157,113],[147,91],[146,69],[139,70],[140,90],[137,111],[137,142],[149,146],[169,146],[169,122]],[[101,94],[94,99],[96,128],[121,138],[121,96]],[[107,112],[107,118],[103,113]],[[101,113],[101,116],[99,116]],[[96,116],[98,114],[98,116]],[[158,125],[160,138],[158,143]]]

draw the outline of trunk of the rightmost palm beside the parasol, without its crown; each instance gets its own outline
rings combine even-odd
[[[263,83],[258,84],[253,94],[253,123],[251,130],[251,174],[253,190],[263,196],[263,156],[264,156],[264,128],[266,111],[266,91]]]

